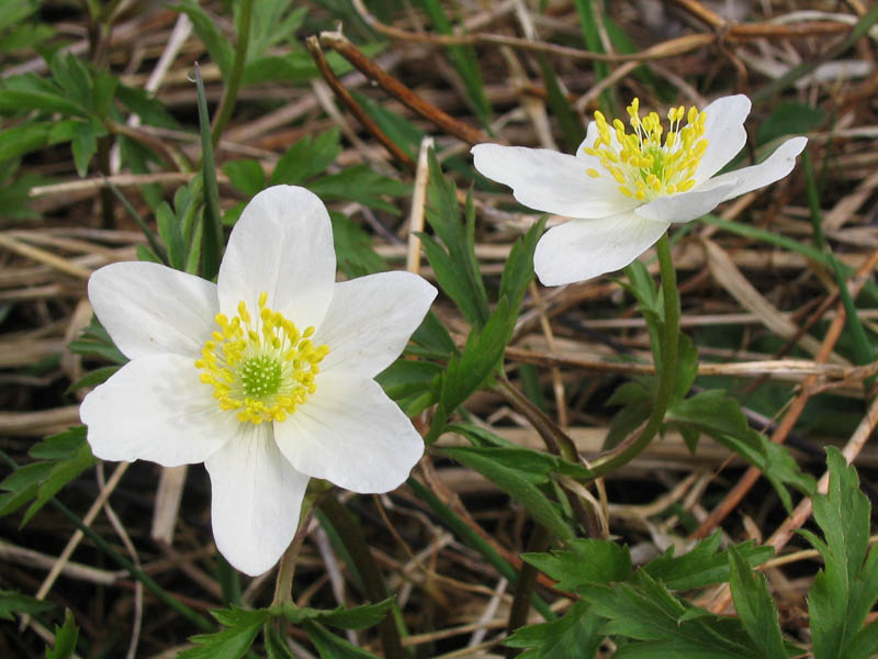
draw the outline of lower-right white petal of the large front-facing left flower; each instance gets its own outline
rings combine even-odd
[[[347,490],[387,492],[424,454],[412,422],[374,380],[336,372],[317,376],[317,391],[274,437],[293,467]]]

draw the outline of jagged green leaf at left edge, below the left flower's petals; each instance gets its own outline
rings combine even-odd
[[[18,468],[0,482],[0,489],[5,490],[0,494],[0,515],[9,515],[31,503],[22,526],[64,485],[98,461],[86,442],[85,426],[46,437],[34,445],[29,455],[36,461]]]

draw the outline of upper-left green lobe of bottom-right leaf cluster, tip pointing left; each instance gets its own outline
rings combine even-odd
[[[611,583],[631,578],[628,547],[612,540],[576,538],[551,554],[522,554],[521,558],[554,579],[560,591],[576,592],[589,583]]]

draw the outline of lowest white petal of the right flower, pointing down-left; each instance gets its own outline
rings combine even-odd
[[[537,243],[533,269],[544,286],[592,279],[623,268],[667,231],[669,223],[633,212],[600,220],[571,220]]]

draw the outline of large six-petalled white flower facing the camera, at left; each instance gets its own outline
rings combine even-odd
[[[128,361],[80,407],[95,456],[204,462],[216,546],[259,574],[295,534],[309,477],[399,485],[424,451],[373,377],[436,297],[409,272],[336,283],[329,215],[303,188],[257,194],[218,283],[150,263],[101,268],[89,299]]]

